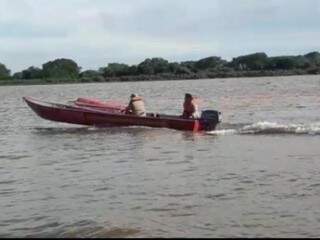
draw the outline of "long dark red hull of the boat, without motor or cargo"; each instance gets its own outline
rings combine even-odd
[[[205,123],[201,119],[183,119],[178,116],[166,115],[140,117],[85,107],[48,103],[30,97],[24,97],[23,99],[38,116],[50,121],[99,127],[147,126],[185,131],[206,130]]]

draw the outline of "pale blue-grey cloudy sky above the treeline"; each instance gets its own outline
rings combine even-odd
[[[0,62],[83,69],[320,51],[320,0],[0,0]]]

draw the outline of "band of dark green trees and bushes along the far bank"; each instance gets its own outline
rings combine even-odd
[[[98,70],[81,71],[71,59],[56,59],[11,75],[0,63],[0,84],[50,84],[71,82],[150,81],[224,77],[320,74],[320,53],[269,57],[253,53],[226,61],[212,56],[198,61],[169,62],[148,58],[138,65],[109,63]]]

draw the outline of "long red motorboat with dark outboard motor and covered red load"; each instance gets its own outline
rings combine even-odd
[[[125,114],[124,106],[99,100],[78,98],[71,105],[39,101],[31,97],[23,98],[40,117],[57,122],[107,126],[148,126],[172,128],[186,131],[211,131],[220,122],[218,111],[203,111],[199,119],[184,119],[180,116],[148,113],[145,117]]]

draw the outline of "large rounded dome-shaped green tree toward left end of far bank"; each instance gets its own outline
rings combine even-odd
[[[56,59],[42,65],[44,78],[77,79],[80,67],[71,59]]]

